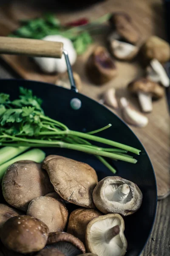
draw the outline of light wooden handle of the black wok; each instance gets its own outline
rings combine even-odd
[[[0,53],[61,58],[62,51],[63,44],[59,42],[0,37]]]

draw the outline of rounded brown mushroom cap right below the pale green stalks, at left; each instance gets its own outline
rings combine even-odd
[[[41,164],[34,161],[18,161],[8,167],[2,181],[3,196],[11,206],[26,211],[34,199],[54,188]]]

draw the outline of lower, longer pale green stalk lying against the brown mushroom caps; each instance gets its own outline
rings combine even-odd
[[[39,148],[34,148],[34,149],[31,149],[29,151],[27,151],[26,153],[23,153],[17,157],[14,157],[13,159],[9,160],[8,162],[6,163],[3,163],[1,166],[0,166],[0,181],[2,180],[3,178],[3,175],[5,174],[6,172],[6,169],[8,168],[8,166],[10,166],[11,164],[17,162],[17,161],[20,161],[20,160],[32,160],[32,161],[35,161],[37,163],[41,163],[42,160],[44,160],[45,158],[45,152],[42,151],[41,149]]]

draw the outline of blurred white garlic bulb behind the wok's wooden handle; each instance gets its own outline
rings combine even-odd
[[[63,48],[68,52],[70,64],[73,65],[75,63],[77,59],[77,53],[70,39],[64,38],[61,35],[48,35],[45,38],[42,38],[42,40],[62,42],[64,44]],[[67,71],[64,55],[62,55],[62,58],[34,57],[34,61],[45,73],[64,73]]]

